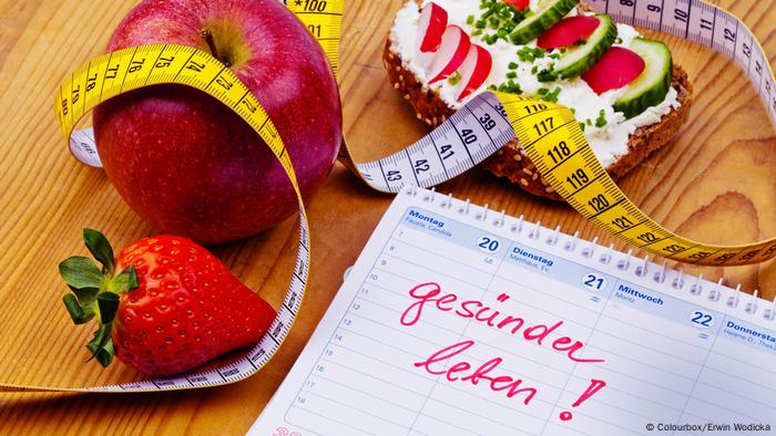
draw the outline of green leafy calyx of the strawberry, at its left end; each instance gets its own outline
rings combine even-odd
[[[92,359],[108,366],[115,354],[111,335],[120,295],[137,288],[137,273],[131,266],[116,274],[113,248],[101,232],[83,229],[83,241],[102,268],[82,256],[60,262],[60,276],[72,291],[62,302],[75,324],[96,319],[98,330],[86,349]]]

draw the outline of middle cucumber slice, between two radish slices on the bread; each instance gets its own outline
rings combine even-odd
[[[571,79],[590,70],[617,39],[617,25],[611,17],[600,13],[593,15],[601,22],[588,37],[588,42],[569,49],[555,63],[554,72],[559,77]]]

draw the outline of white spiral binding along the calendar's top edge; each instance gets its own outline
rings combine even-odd
[[[686,291],[694,298],[705,298],[711,302],[724,302],[728,308],[742,310],[746,316],[756,316],[762,313],[766,321],[776,320],[776,298],[774,301],[767,301],[758,297],[759,291],[754,290],[752,294],[741,290],[741,284],[735,289],[724,286],[724,278],[716,282],[705,280],[703,274],[688,276],[682,269],[675,270],[668,268],[667,260],[663,263],[655,263],[650,260],[650,256],[644,258],[634,258],[633,250],[627,252],[619,251],[614,248],[614,243],[609,247],[603,247],[598,243],[599,238],[594,237],[591,241],[580,239],[579,231],[572,235],[561,230],[561,226],[554,229],[543,227],[541,221],[527,221],[522,215],[519,217],[508,216],[506,210],[493,211],[488,205],[478,206],[471,204],[470,199],[461,200],[452,196],[452,194],[442,195],[436,191],[436,188],[425,189],[415,185],[407,185],[402,189],[409,196],[422,195],[422,200],[429,204],[437,204],[443,209],[453,209],[460,215],[474,214],[474,218],[493,226],[494,228],[508,227],[509,231],[514,235],[521,235],[527,231],[529,239],[540,240],[542,235],[548,235],[543,242],[550,247],[557,247],[562,242],[561,247],[568,253],[578,253],[579,256],[593,259],[599,255],[596,260],[603,266],[614,266],[622,272],[631,272],[642,282],[644,279],[652,280],[655,284],[662,286],[661,291],[683,292]],[[439,200],[438,200],[439,199]],[[616,259],[615,259],[616,258]],[[652,274],[650,274],[652,272]],[[688,284],[692,282],[692,284]],[[742,303],[743,300],[748,300]],[[762,310],[760,310],[762,309]]]

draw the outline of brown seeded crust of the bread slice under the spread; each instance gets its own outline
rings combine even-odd
[[[405,69],[404,60],[399,53],[391,50],[390,37],[386,41],[382,64],[388,71],[391,85],[401,93],[405,100],[409,101],[418,120],[436,127],[456,112],[442,101],[436,91],[430,90],[411,71]],[[671,85],[676,90],[680,107],[672,108],[657,123],[639,127],[631,135],[627,142],[627,154],[620,156],[616,162],[606,167],[606,172],[614,180],[627,174],[654,150],[668,144],[687,121],[693,87],[687,73],[676,64],[673,66]],[[482,166],[496,176],[504,177],[531,194],[562,200],[537,172],[535,166],[525,156],[517,138],[488,157]]]

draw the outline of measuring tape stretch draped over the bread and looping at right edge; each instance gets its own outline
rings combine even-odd
[[[615,21],[671,33],[733,58],[776,124],[773,71],[757,39],[735,15],[701,0],[594,0],[590,4]],[[635,247],[703,266],[752,264],[776,257],[776,238],[738,246],[709,245],[678,236],[654,221],[612,180],[571,111],[554,103],[483,93],[404,150],[348,166],[355,166],[361,178],[380,191],[396,193],[408,183],[429,187],[476,166],[514,137],[564,200]]]

